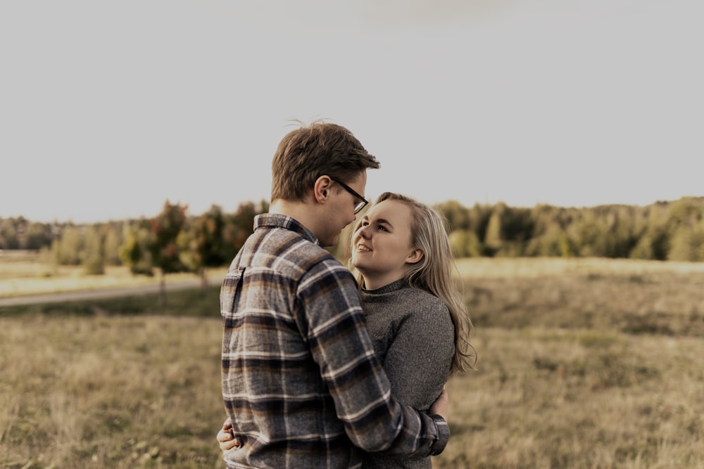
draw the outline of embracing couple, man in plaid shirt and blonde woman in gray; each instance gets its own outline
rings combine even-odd
[[[429,468],[446,446],[472,323],[437,212],[384,193],[356,219],[379,166],[337,124],[279,143],[220,291],[228,468]],[[353,222],[348,268],[325,247]]]

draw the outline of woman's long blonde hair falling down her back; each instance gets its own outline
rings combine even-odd
[[[472,319],[462,300],[458,285],[453,279],[453,271],[457,268],[448,238],[447,219],[441,217],[429,205],[420,203],[407,195],[384,192],[375,200],[375,205],[384,200],[398,200],[405,203],[413,213],[410,224],[411,243],[415,248],[422,250],[423,258],[420,262],[409,264],[404,279],[410,287],[425,290],[438,297],[450,310],[455,326],[455,354],[450,373],[474,368],[477,354],[470,344]],[[354,231],[357,231],[360,223],[361,221]],[[350,266],[358,284],[362,285],[362,274],[351,263]]]

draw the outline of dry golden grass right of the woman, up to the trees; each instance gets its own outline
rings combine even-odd
[[[477,371],[436,468],[704,468],[704,264],[463,259]]]

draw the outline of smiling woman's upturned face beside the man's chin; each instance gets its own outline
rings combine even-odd
[[[403,278],[406,265],[422,258],[411,244],[411,221],[411,208],[398,200],[374,205],[360,221],[352,236],[352,265],[367,289]]]

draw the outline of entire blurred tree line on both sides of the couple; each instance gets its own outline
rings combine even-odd
[[[465,207],[450,200],[435,208],[448,220],[457,257],[610,257],[704,261],[704,197],[644,207]],[[241,203],[233,213],[218,205],[198,216],[165,202],[153,218],[76,225],[0,219],[1,250],[40,250],[57,265],[82,265],[88,274],[129,266],[134,274],[203,272],[225,266],[268,203]],[[330,251],[346,257],[346,238]]]

